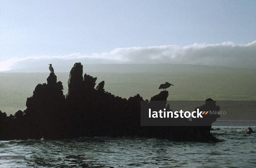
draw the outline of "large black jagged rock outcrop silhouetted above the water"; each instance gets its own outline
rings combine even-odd
[[[218,142],[211,136],[211,123],[218,116],[203,121],[207,126],[140,126],[141,103],[148,106],[154,101],[166,105],[168,91],[151,97],[150,102],[137,94],[129,99],[112,95],[104,90],[104,81],[96,88],[96,80],[90,75],[83,77],[83,66],[75,63],[68,80],[68,93],[63,95],[62,82],[50,73],[47,84],[38,84],[33,95],[27,98],[27,109],[6,116],[0,111],[0,140],[10,139],[71,139],[82,136],[144,136],[174,141]],[[215,101],[207,99],[200,110],[211,107],[218,110]],[[184,120],[184,119],[183,119]],[[176,122],[191,122],[187,118]],[[192,122],[195,122],[195,120]]]

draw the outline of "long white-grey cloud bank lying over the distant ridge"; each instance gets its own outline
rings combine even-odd
[[[0,62],[0,71],[47,64],[55,66],[83,64],[119,63],[119,64],[197,64],[211,66],[232,66],[256,68],[256,41],[246,45],[233,42],[222,44],[198,44],[180,47],[177,45],[116,48],[111,52],[82,55],[73,53],[64,56],[39,56],[11,58]]]

